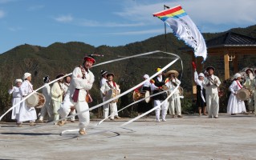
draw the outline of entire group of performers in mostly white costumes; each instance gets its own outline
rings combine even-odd
[[[41,108],[40,113],[36,114],[35,107],[30,106],[29,101],[23,101],[20,105],[16,105],[12,110],[11,118],[16,119],[17,126],[22,126],[22,122],[29,121],[30,126],[35,126],[35,122],[55,122],[56,125],[63,126],[67,123],[67,119],[59,120],[60,118],[67,118],[67,116],[74,115],[76,112],[79,118],[79,134],[86,134],[85,127],[90,122],[90,114],[88,110],[88,102],[91,96],[89,90],[95,82],[95,76],[91,72],[91,66],[95,64],[95,58],[91,55],[83,58],[83,64],[76,66],[71,76],[59,74],[56,76],[58,81],[50,86],[51,82],[49,76],[43,78],[45,87],[43,87],[42,94],[45,97],[44,106]],[[159,72],[161,67],[156,68]],[[220,79],[214,75],[213,66],[208,66],[204,73],[197,74],[194,69],[194,82],[197,84],[197,107],[199,115],[208,115],[209,118],[218,118],[219,110],[219,95],[218,86],[221,85]],[[230,99],[227,106],[227,113],[234,115],[239,113],[247,113],[245,103],[237,98],[238,90],[247,88],[252,91],[256,90],[256,80],[252,78],[253,70],[246,70],[246,78],[241,84],[242,75],[235,74],[234,81],[229,87],[231,92]],[[115,74],[102,70],[100,75],[100,95],[102,102],[120,94],[120,86],[114,82]],[[182,118],[181,115],[181,98],[182,88],[181,81],[178,79],[179,73],[177,70],[169,70],[165,73],[160,72],[155,78],[149,79],[148,74],[144,74],[144,84],[134,90],[134,93],[150,93],[156,94],[152,96],[152,104],[156,107],[155,115],[156,122],[165,122],[166,114],[171,114],[171,118]],[[28,94],[33,92],[33,85],[31,84],[31,74],[25,73],[22,79],[16,79],[16,86],[12,86],[9,94],[12,94],[12,105],[14,106],[26,98]],[[161,92],[161,93],[160,93]],[[168,98],[169,94],[172,94]],[[144,95],[145,97],[145,95]],[[249,111],[254,111],[256,104],[254,100],[256,94],[250,97],[247,101],[250,106]],[[253,106],[254,104],[254,106]],[[142,114],[151,110],[152,106],[148,102],[138,103],[138,113]],[[176,113],[175,113],[176,111]],[[254,112],[255,113],[255,112]],[[120,118],[117,112],[117,101],[112,101],[104,104],[103,118],[114,120]],[[71,122],[75,122],[75,116],[71,116]]]

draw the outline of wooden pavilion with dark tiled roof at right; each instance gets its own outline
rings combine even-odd
[[[224,64],[224,80],[230,78],[230,65],[233,65],[233,73],[238,72],[239,57],[256,55],[256,38],[231,31],[216,38],[209,39],[206,41],[206,46],[208,59],[206,59],[205,63],[209,63],[209,57],[219,58],[223,61],[220,65]],[[193,50],[187,50],[187,53],[192,56],[193,62],[196,62],[197,70],[203,70],[203,65],[201,64],[202,58],[195,58]],[[193,94],[195,94],[194,89],[196,89],[196,86],[193,83]]]

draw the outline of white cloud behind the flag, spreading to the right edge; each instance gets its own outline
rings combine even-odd
[[[204,23],[233,23],[238,25],[256,23],[255,0],[180,0],[179,2],[161,2],[155,4],[145,4],[136,1],[136,3],[125,4],[124,10],[115,14],[131,21],[153,24],[156,20],[152,18],[152,14],[164,10],[164,4],[170,7],[181,5],[193,21],[199,25],[203,25]]]

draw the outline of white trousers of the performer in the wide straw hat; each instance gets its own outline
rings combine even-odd
[[[173,94],[171,98],[169,98],[169,113],[175,114],[175,110],[177,115],[181,115],[181,98],[178,98],[180,94]]]

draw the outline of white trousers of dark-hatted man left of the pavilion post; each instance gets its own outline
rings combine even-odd
[[[219,110],[218,94],[206,94],[206,106],[209,117],[217,117]]]

